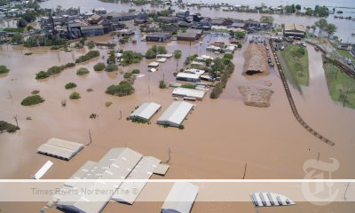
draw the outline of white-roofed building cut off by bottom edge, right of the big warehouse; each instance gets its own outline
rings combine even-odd
[[[199,186],[175,183],[162,205],[162,213],[189,213],[199,193]]]

